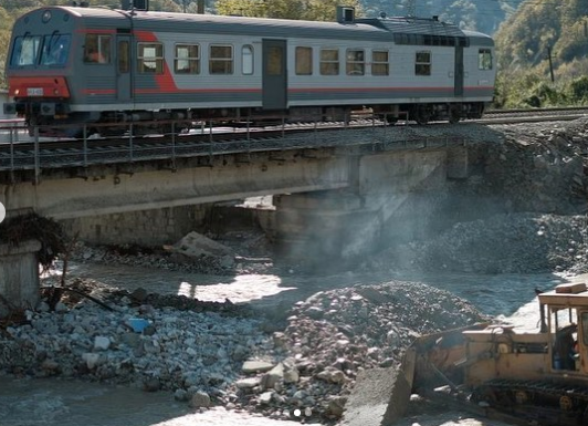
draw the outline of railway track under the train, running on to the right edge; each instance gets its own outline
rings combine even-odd
[[[471,124],[517,124],[546,121],[570,121],[588,114],[588,107],[549,110],[489,111],[484,118],[464,121]],[[10,124],[10,125],[8,125]],[[431,128],[448,126],[431,123]],[[388,126],[368,111],[356,113],[350,122],[285,123],[265,127],[203,125],[185,134],[150,135],[144,137],[88,137],[84,139],[36,138],[24,136],[24,123],[0,123],[0,172],[60,167],[85,167],[92,164],[134,163],[149,159],[216,156],[294,148],[328,148],[343,145],[390,145],[411,147],[422,138],[410,134],[410,122]],[[343,135],[342,132],[348,132]],[[18,136],[18,137],[15,137]],[[344,136],[344,137],[342,137]],[[24,141],[23,141],[24,139]],[[342,143],[342,141],[346,141]],[[456,141],[456,143],[468,141]],[[424,142],[428,146],[452,143],[447,137]]]

